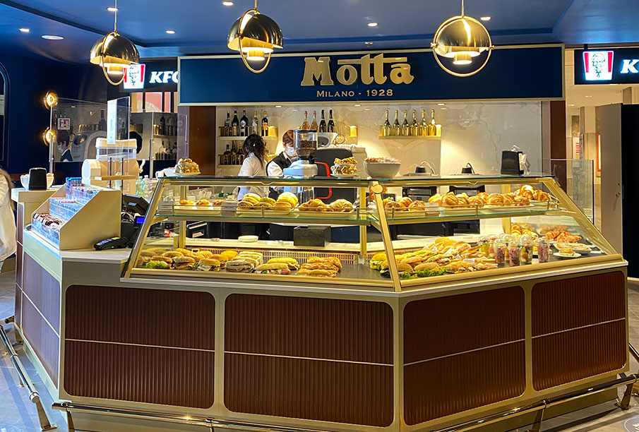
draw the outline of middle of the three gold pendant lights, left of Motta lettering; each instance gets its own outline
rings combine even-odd
[[[273,49],[284,47],[284,37],[280,26],[258,11],[258,2],[255,0],[255,8],[246,11],[231,26],[227,46],[239,51],[249,71],[261,73],[266,70]],[[249,61],[265,61],[265,64],[261,69],[255,69]]]

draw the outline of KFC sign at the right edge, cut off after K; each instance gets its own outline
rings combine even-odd
[[[639,83],[639,48],[575,49],[575,84]]]

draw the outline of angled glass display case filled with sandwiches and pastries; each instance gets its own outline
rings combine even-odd
[[[399,292],[607,260],[549,176],[192,176],[158,181],[124,277]]]

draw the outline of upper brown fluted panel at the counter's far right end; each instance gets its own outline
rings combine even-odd
[[[625,317],[623,272],[553,280],[532,288],[533,336]]]

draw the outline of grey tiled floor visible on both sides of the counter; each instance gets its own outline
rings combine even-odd
[[[4,318],[13,315],[13,273],[0,275],[0,323],[4,323]],[[639,347],[639,282],[628,283],[628,315],[630,318],[630,340],[635,347]],[[3,324],[8,332],[9,339],[13,340],[13,325]],[[40,431],[37,420],[35,405],[30,402],[25,389],[20,388],[18,376],[13,370],[8,356],[4,355],[4,348],[0,350],[0,432],[32,432]],[[37,376],[35,369],[25,358],[20,346],[16,347],[20,354],[25,368],[28,369],[30,377],[34,380],[37,391],[40,392],[44,409],[49,414],[49,419],[58,425],[58,431],[66,432],[66,422],[59,412],[52,412],[52,400],[44,389],[42,381]],[[631,363],[631,373],[639,371],[639,364],[634,359]],[[622,393],[619,390],[620,395]],[[572,412],[556,419],[544,421],[542,431],[544,432],[623,432],[623,424],[627,419],[639,416],[638,399],[633,397],[631,409],[621,411],[614,407],[613,402],[607,402]],[[639,424],[638,421],[633,424]],[[13,427],[12,427],[13,426]],[[520,428],[517,432],[524,432],[527,428]],[[635,431],[635,429],[629,429]],[[514,431],[513,431],[514,432]],[[626,431],[628,432],[628,431]]]

